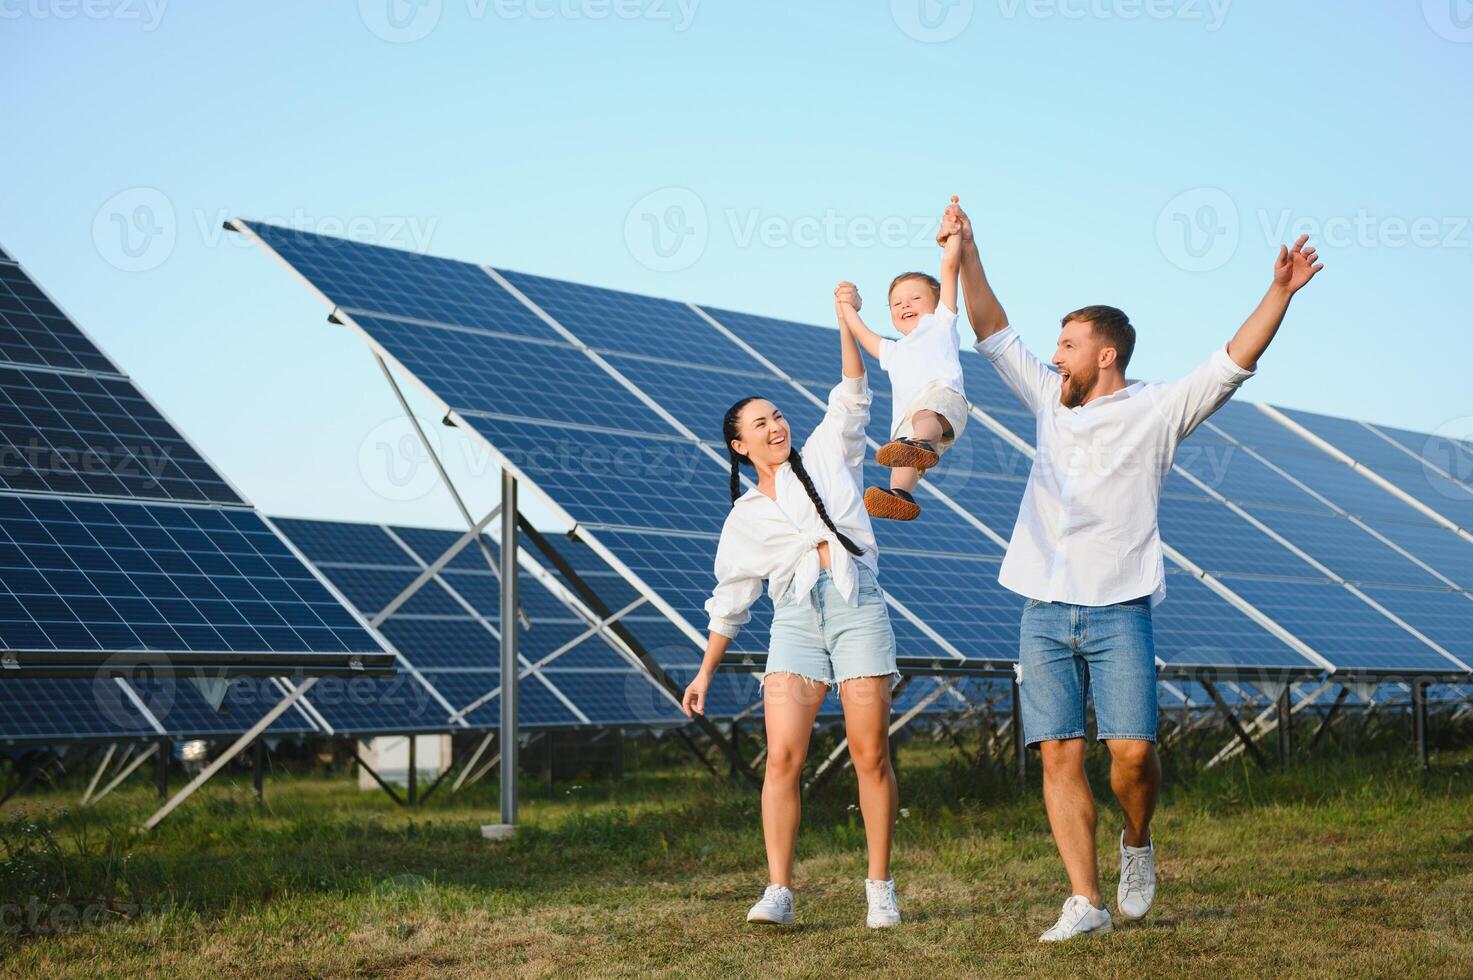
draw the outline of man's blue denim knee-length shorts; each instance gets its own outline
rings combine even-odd
[[[1156,740],[1156,647],[1147,601],[1074,606],[1030,598],[1019,632],[1027,744],[1084,738],[1090,696],[1099,740]]]

